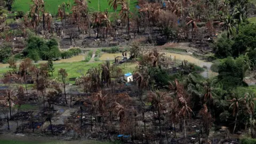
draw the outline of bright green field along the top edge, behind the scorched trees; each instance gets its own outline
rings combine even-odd
[[[73,0],[44,0],[45,2],[45,10],[46,12],[50,12],[52,14],[56,14],[58,11],[58,5],[60,5],[62,2],[69,2],[71,3],[71,6],[74,4]],[[97,0],[90,0],[91,3],[88,3],[89,7],[93,7],[95,10],[98,10],[98,1]],[[129,1],[129,0],[127,0]],[[134,6],[137,3],[137,0],[130,0],[130,9],[131,11],[134,10]],[[14,0],[13,3],[13,11],[23,11],[28,12],[31,0]],[[71,6],[69,8],[69,11],[71,9]],[[104,11],[105,9],[108,9],[109,12],[114,12],[110,7],[108,6],[107,0],[100,0],[100,11]],[[120,7],[119,7],[120,9]]]

